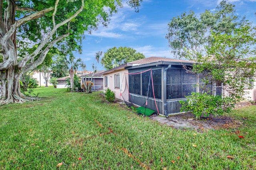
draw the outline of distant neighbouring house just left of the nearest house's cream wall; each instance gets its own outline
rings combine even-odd
[[[92,77],[92,72],[90,72],[89,74],[86,74],[86,75],[82,75],[81,76],[81,86],[84,82],[91,81],[91,82],[93,82],[92,91],[103,90],[102,72],[104,72],[104,71],[105,70],[101,70],[101,71],[94,73],[93,77]]]

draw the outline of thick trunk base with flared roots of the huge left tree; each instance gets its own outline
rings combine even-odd
[[[24,103],[35,99],[20,92],[20,76],[20,72],[16,72],[14,65],[0,72],[0,105]]]

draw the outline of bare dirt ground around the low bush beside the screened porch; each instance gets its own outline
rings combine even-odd
[[[250,106],[250,102],[240,102],[235,106],[235,109],[240,107]],[[156,116],[150,119],[158,121],[162,124],[174,127],[176,129],[197,129],[202,131],[204,129],[228,129],[240,127],[243,123],[228,116],[201,116],[200,120],[196,120],[192,113],[180,113],[169,115],[168,117]]]

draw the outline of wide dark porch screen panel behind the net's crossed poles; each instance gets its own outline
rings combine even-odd
[[[162,98],[162,70],[152,70],[155,98]],[[149,84],[149,86],[148,86]],[[150,71],[142,73],[142,96],[154,98]]]

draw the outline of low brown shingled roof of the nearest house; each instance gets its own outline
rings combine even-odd
[[[131,66],[139,66],[143,64],[150,64],[150,63],[158,63],[162,62],[162,64],[168,64],[168,63],[194,63],[193,61],[187,61],[187,60],[180,60],[180,59],[170,59],[170,58],[165,58],[165,57],[148,57],[145,59],[140,59],[136,61],[132,61],[123,65],[120,65],[118,67],[112,68],[110,70],[107,70],[102,73],[102,75],[114,72],[117,70],[122,70],[125,69],[126,67],[131,67]]]

